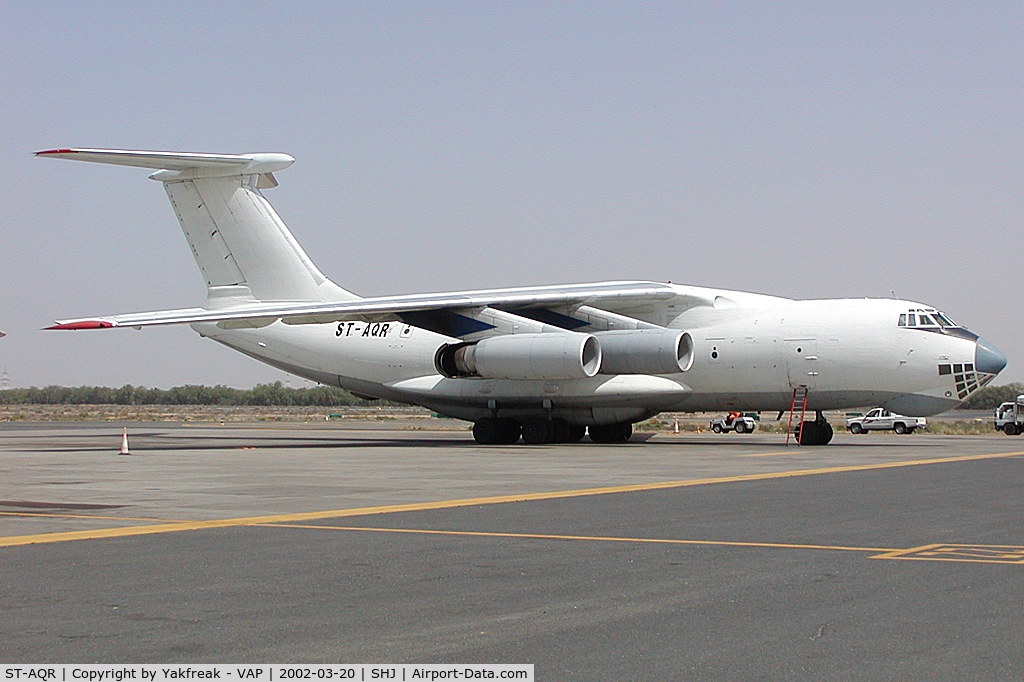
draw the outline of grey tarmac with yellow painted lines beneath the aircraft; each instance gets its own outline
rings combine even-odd
[[[1024,677],[1024,440],[0,427],[0,662]]]

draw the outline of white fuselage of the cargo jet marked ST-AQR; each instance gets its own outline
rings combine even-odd
[[[438,373],[435,355],[439,347],[461,339],[396,321],[278,322],[254,330],[194,327],[204,336],[315,381],[471,421],[496,411],[516,418],[543,412],[584,423],[595,418],[642,419],[666,410],[783,411],[791,408],[799,386],[808,389],[809,410],[880,404],[900,414],[929,416],[955,407],[965,392],[983,385],[994,375],[986,375],[985,369],[1001,369],[978,368],[977,336],[963,328],[900,327],[899,317],[908,310],[932,310],[920,303],[797,301],[678,289],[688,294],[679,306],[670,299],[629,311],[637,319],[684,330],[692,338],[690,368],[657,377],[446,378]],[[694,292],[714,302],[691,305]],[[614,400],[602,399],[612,395]]]

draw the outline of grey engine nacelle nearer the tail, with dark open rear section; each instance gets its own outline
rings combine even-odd
[[[601,369],[601,344],[590,334],[509,334],[445,344],[434,357],[445,377],[587,379]]]

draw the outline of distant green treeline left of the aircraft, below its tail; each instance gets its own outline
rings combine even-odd
[[[376,401],[381,404],[386,401]],[[348,391],[331,386],[289,388],[280,381],[257,384],[254,388],[230,386],[175,386],[146,388],[127,384],[121,388],[105,386],[45,386],[8,388],[0,391],[0,404],[219,404],[321,407],[370,404]]]

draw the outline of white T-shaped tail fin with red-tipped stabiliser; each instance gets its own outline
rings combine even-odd
[[[174,213],[206,280],[209,307],[236,302],[358,298],[328,280],[260,194],[278,185],[286,154],[212,155],[52,150],[36,156],[160,169]]]

